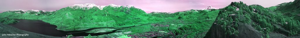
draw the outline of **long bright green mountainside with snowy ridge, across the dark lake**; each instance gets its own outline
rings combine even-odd
[[[16,23],[14,19],[35,19],[57,25],[58,30],[73,31],[96,27],[131,27],[138,24],[161,22],[161,18],[153,17],[133,6],[109,5],[99,9],[68,6],[56,12],[6,11],[1,13],[2,23]],[[51,13],[51,14],[50,14]],[[7,22],[5,22],[7,21]]]

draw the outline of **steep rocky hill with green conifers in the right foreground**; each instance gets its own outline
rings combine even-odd
[[[295,0],[298,1],[298,0]],[[285,38],[299,36],[300,22],[260,5],[232,2],[220,12],[205,38]]]

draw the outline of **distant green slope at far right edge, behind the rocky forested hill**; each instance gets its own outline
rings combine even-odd
[[[279,4],[278,6],[273,6],[276,7],[274,9],[275,12],[277,13],[282,13],[283,15],[289,17],[289,18],[293,18],[295,20],[300,21],[300,1],[299,0],[295,0],[293,2],[289,2],[289,3],[282,3]]]

